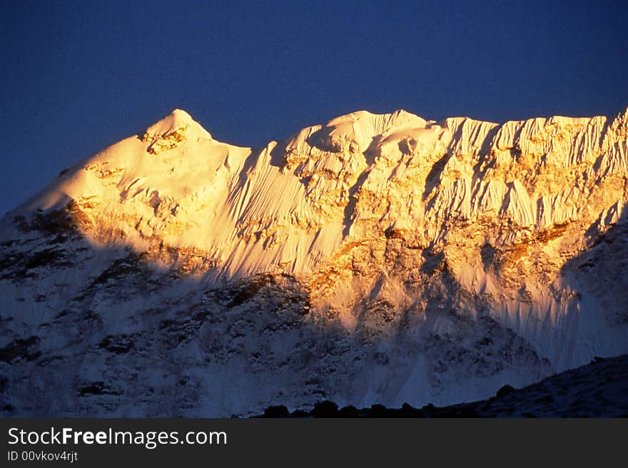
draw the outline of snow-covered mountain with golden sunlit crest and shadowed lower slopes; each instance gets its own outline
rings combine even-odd
[[[627,188],[628,109],[261,150],[173,111],[0,220],[1,411],[447,405],[627,353]]]

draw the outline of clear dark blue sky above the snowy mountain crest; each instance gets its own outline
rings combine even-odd
[[[628,106],[622,1],[11,1],[0,212],[173,108],[261,146],[350,111],[490,121]]]

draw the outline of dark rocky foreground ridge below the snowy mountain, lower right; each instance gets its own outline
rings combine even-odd
[[[515,389],[504,385],[495,397],[447,407],[400,408],[373,405],[338,408],[328,400],[310,411],[269,406],[259,417],[628,417],[628,355],[602,359]]]

